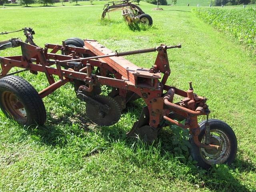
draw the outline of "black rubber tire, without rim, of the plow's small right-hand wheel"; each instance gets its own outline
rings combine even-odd
[[[198,125],[200,127],[200,133],[198,135],[199,141],[202,141],[202,138],[205,134],[205,122],[206,120],[200,122]],[[217,129],[221,130],[228,136],[228,140],[230,140],[230,155],[228,156],[227,160],[224,162],[228,165],[230,165],[234,159],[236,158],[236,152],[237,152],[237,140],[236,140],[236,135],[234,134],[234,131],[232,128],[226,124],[225,122],[217,119],[210,119],[208,120],[210,124],[210,130],[212,129]],[[190,154],[193,158],[193,160],[196,160],[198,163],[197,165],[202,167],[203,169],[209,169],[211,167],[211,164],[207,164],[202,156],[200,155],[200,148],[196,146],[194,143],[194,140],[192,138],[189,139],[191,148],[190,148]]]

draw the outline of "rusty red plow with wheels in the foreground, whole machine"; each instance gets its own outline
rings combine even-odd
[[[77,98],[86,102],[86,115],[100,126],[116,124],[126,104],[142,98],[146,106],[128,136],[152,142],[163,127],[173,124],[189,129],[190,153],[199,166],[209,168],[211,164],[233,162],[236,136],[228,124],[208,120],[206,98],[194,93],[191,82],[187,91],[166,85],[170,76],[167,51],[181,48],[180,44],[113,52],[96,40],[70,38],[60,45],[47,43],[41,48],[34,43],[31,28],[22,30],[25,42],[19,38],[0,42],[0,50],[20,46],[22,51],[19,56],[0,57],[0,108],[6,116],[26,126],[44,125],[46,109],[42,98],[71,82]],[[148,52],[157,52],[151,68],[138,67],[122,57]],[[14,71],[17,68],[21,70]],[[44,73],[49,86],[38,93],[26,80],[14,76],[24,71]],[[55,81],[54,76],[59,80]],[[102,85],[112,88],[108,96],[101,94]],[[182,99],[173,103],[174,95]],[[206,120],[198,123],[201,115]]]

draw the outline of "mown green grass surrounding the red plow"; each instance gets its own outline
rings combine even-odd
[[[35,42],[42,47],[70,37],[97,39],[118,51],[181,43],[181,49],[168,50],[172,73],[168,84],[187,90],[192,81],[194,91],[209,98],[210,118],[224,120],[236,133],[234,163],[208,171],[195,168],[186,152],[187,158],[174,156],[176,131],[168,127],[156,145],[133,145],[125,133],[138,118],[141,102],[129,106],[114,126],[100,127],[86,118],[85,104],[67,84],[44,98],[44,127],[19,126],[0,112],[0,191],[256,191],[255,56],[205,24],[190,7],[163,6],[164,11],[154,11],[155,6],[141,4],[153,18],[151,28],[129,28],[120,12],[101,21],[103,6],[95,5],[1,9],[1,31],[32,27]],[[14,48],[0,54],[21,51]],[[126,58],[150,68],[156,53]],[[38,91],[47,86],[43,74],[21,76]]]

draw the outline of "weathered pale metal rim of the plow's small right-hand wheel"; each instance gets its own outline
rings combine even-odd
[[[202,138],[202,143],[205,143],[205,135]],[[231,146],[228,136],[221,130],[210,131],[210,144],[220,146],[221,150],[211,150],[200,148],[200,155],[207,164],[222,164],[226,162],[229,157]]]

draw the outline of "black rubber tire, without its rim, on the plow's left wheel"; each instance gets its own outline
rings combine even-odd
[[[16,120],[16,122],[26,126],[33,124],[42,126],[45,124],[46,110],[44,103],[38,92],[30,83],[18,76],[6,76],[0,79],[0,98],[2,97],[2,93],[6,90],[12,92],[19,98],[27,113],[26,123],[19,122],[18,120]],[[6,112],[2,100],[0,100],[0,108],[8,118],[14,119]]]

